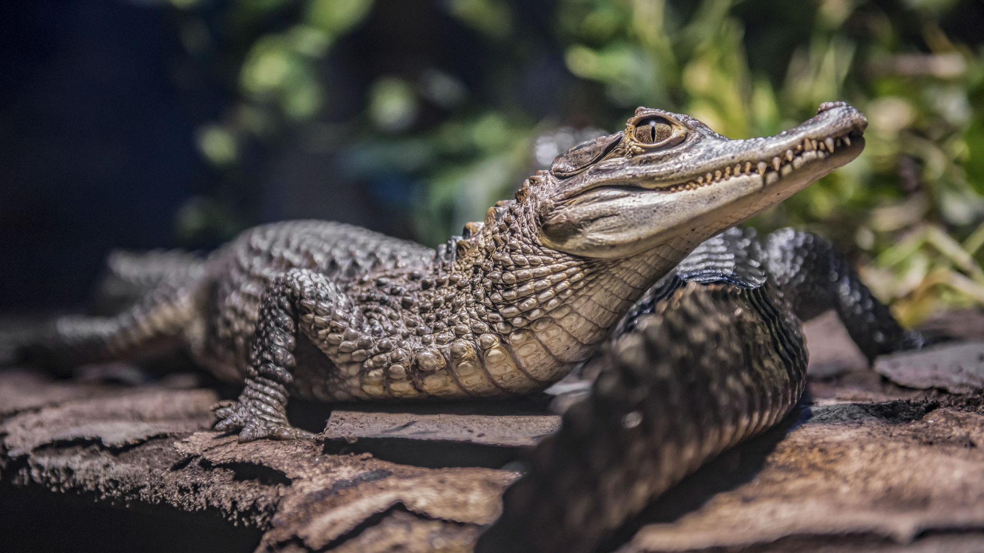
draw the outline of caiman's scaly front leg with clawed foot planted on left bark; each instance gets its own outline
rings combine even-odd
[[[318,305],[332,319],[355,323],[351,300],[325,276],[293,269],[270,283],[260,304],[260,318],[246,368],[246,388],[239,399],[215,409],[215,429],[239,432],[240,442],[260,438],[310,439],[314,435],[290,426],[286,404],[296,364],[293,351],[300,331],[299,314]]]

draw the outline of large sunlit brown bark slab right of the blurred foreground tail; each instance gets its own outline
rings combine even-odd
[[[644,526],[621,552],[790,551],[799,549],[769,544],[795,538],[819,545],[845,534],[892,546],[886,551],[934,550],[914,538],[984,526],[984,453],[977,447],[984,416],[946,408],[927,414],[932,406],[814,407],[752,481],[676,522]]]

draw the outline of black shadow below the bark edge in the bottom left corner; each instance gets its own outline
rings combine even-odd
[[[0,551],[247,553],[262,533],[218,519],[113,509],[86,496],[0,489]]]

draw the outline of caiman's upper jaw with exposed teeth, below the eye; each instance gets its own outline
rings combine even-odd
[[[774,182],[803,165],[839,166],[853,159],[864,149],[861,134],[867,125],[865,116],[844,102],[821,104],[815,117],[766,138],[730,140],[695,125],[675,148],[595,164],[563,183],[558,199],[601,186],[679,192],[740,175],[758,174],[766,183]]]

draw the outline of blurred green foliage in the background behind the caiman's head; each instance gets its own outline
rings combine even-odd
[[[205,0],[171,1],[194,14]],[[559,127],[616,131],[646,105],[748,138],[844,99],[868,115],[865,153],[751,224],[828,236],[904,324],[917,324],[941,306],[984,303],[984,50],[942,25],[968,4],[557,0],[550,25],[530,32],[519,4],[447,0],[441,9],[493,52],[481,68],[489,82],[523,79],[520,60],[547,41],[573,76],[570,90],[543,118],[516,93],[468,91],[437,69],[415,80],[379,76],[350,127],[349,165],[356,174],[383,166],[424,183],[415,228],[433,245],[541,168],[536,139]],[[339,37],[385,8],[372,0],[231,0],[225,9],[239,30],[224,63],[238,75],[240,100],[198,137],[219,168],[239,162],[247,137],[317,120],[332,86],[321,61]],[[265,28],[272,19],[280,23]],[[443,115],[420,121],[425,105]]]

